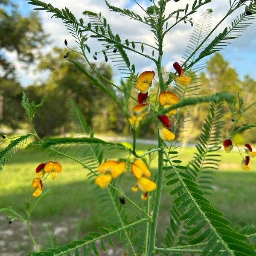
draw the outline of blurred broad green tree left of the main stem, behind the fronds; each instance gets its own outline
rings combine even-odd
[[[95,131],[122,133],[125,122],[121,112],[108,96],[93,85],[72,63],[63,59],[64,54],[63,50],[54,48],[51,53],[45,55],[38,69],[49,70],[47,81],[39,87],[26,88],[29,98],[37,101],[48,93],[47,102],[38,114],[38,118],[35,119],[37,131],[41,135],[52,135],[72,130],[70,103],[67,100],[72,98]],[[72,58],[83,62],[80,55],[73,54]],[[112,80],[111,67],[105,63],[100,63],[95,67],[108,80]]]

